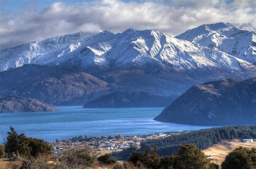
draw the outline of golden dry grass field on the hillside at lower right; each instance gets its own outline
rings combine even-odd
[[[208,147],[208,149],[203,150],[203,152],[206,154],[206,156],[210,156],[208,159],[212,159],[212,162],[221,165],[227,154],[239,146],[256,148],[256,142],[242,143],[240,140],[233,140],[232,142],[221,141],[219,144],[215,144],[211,147]]]

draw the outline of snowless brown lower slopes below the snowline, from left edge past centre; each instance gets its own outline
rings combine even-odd
[[[116,91],[178,95],[197,83],[199,81],[187,79],[181,74],[161,77],[143,72],[113,70],[92,76],[62,67],[30,64],[0,72],[0,96],[36,98],[53,105],[84,105]]]

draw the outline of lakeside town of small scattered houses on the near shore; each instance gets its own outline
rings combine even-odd
[[[56,140],[50,142],[52,147],[52,154],[56,156],[65,150],[71,149],[74,146],[89,145],[93,147],[99,154],[118,152],[127,149],[131,146],[140,147],[140,144],[145,140],[165,138],[172,135],[179,135],[180,133],[186,133],[190,131],[173,131],[166,133],[154,133],[149,135],[133,135],[133,136],[122,136],[120,134],[115,136],[100,136],[100,137],[87,137],[79,136],[63,140]]]

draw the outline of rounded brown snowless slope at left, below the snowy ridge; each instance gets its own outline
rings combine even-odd
[[[61,67],[24,65],[0,73],[0,96],[15,94],[51,104],[84,104],[88,97],[108,94],[107,85],[87,73]]]

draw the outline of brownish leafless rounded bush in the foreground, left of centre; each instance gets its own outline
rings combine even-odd
[[[59,156],[59,161],[65,163],[70,168],[90,167],[96,159],[96,151],[87,145],[72,147],[69,150],[65,150]]]

